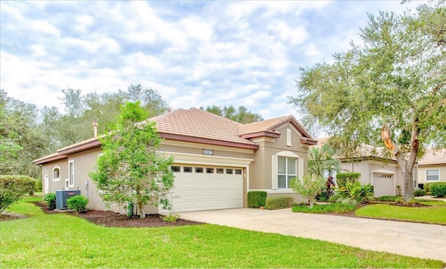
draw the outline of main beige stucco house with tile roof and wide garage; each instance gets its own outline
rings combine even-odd
[[[249,190],[303,201],[289,184],[307,172],[308,146],[317,141],[293,116],[240,124],[180,108],[149,121],[156,122],[164,138],[160,154],[174,156],[174,211],[240,208],[247,206]],[[91,138],[34,161],[42,165],[44,193],[81,190],[90,209],[107,210],[89,178],[101,152],[98,138]],[[111,209],[122,212],[123,205]],[[145,209],[165,213],[153,206]]]

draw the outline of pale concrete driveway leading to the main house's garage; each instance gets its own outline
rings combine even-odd
[[[446,226],[293,213],[291,209],[223,209],[180,213],[180,218],[446,262]]]

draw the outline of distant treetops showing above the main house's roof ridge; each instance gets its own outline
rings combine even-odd
[[[207,108],[200,107],[202,111],[208,111],[215,115],[219,115],[222,117],[226,117],[226,119],[233,120],[234,122],[240,122],[243,124],[251,123],[251,122],[259,122],[263,120],[263,117],[260,114],[252,113],[248,111],[245,106],[239,106],[235,108],[233,106],[208,106]]]

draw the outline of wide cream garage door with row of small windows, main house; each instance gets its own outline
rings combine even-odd
[[[172,165],[172,170],[175,212],[243,207],[243,168]]]

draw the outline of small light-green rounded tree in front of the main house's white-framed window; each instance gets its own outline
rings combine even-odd
[[[325,187],[325,179],[323,177],[310,174],[305,175],[302,179],[296,178],[291,181],[291,188],[293,188],[296,193],[302,195],[302,197],[308,199],[310,208],[313,208],[316,196],[320,194]]]

